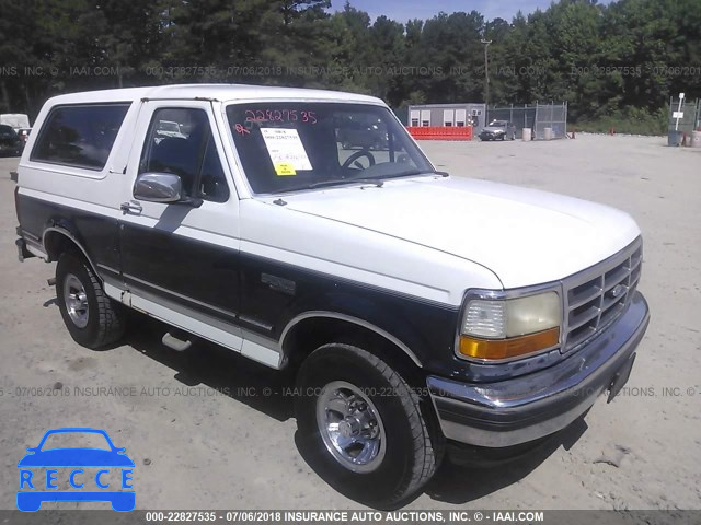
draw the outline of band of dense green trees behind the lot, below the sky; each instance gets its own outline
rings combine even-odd
[[[699,0],[559,0],[510,22],[471,11],[405,25],[371,20],[348,1],[330,8],[330,0],[0,0],[0,106],[35,115],[55,93],[200,81],[331,88],[394,106],[481,101],[482,38],[492,42],[492,103],[566,100],[576,119],[642,122],[670,95],[701,96]]]

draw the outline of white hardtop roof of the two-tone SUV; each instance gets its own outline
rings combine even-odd
[[[150,100],[299,100],[335,101],[384,104],[380,98],[341,91],[306,90],[301,88],[279,88],[248,84],[171,84],[150,88],[125,88],[119,90],[87,91],[50,98],[51,104],[76,104],[95,102],[131,102]]]

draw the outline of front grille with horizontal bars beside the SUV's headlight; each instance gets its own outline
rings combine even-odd
[[[625,310],[640,280],[642,260],[639,237],[613,257],[563,281],[563,353],[586,343]]]

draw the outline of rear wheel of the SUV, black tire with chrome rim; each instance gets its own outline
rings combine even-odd
[[[90,265],[72,252],[58,259],[56,296],[66,328],[77,343],[97,349],[124,335],[120,305],[105,295]]]

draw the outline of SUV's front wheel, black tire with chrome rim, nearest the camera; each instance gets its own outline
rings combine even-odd
[[[422,399],[366,350],[320,347],[302,363],[297,393],[301,446],[319,474],[349,498],[395,508],[439,466],[444,439],[432,432]]]

